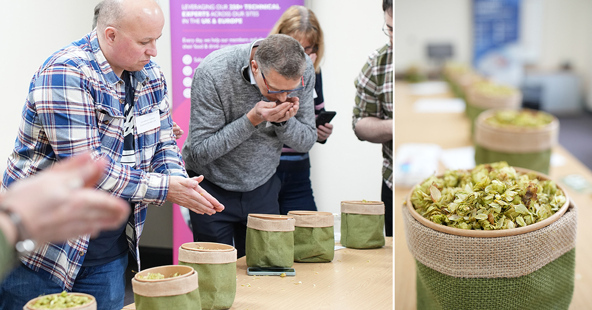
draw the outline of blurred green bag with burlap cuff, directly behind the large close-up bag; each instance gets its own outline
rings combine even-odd
[[[551,149],[558,143],[559,121],[540,127],[496,126],[487,122],[498,109],[481,113],[475,121],[475,163],[506,161],[514,167],[549,173]],[[544,113],[536,111],[533,113]]]

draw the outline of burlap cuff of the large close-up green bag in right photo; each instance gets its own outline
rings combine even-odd
[[[475,238],[427,228],[403,206],[407,246],[417,261],[463,278],[519,277],[540,269],[575,247],[577,207],[549,226],[509,237]]]

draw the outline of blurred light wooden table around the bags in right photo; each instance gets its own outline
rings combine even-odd
[[[469,120],[463,113],[415,113],[413,103],[420,98],[411,95],[407,84],[395,82],[394,85],[394,150],[402,143],[436,143],[443,149],[458,148],[472,145]],[[452,97],[451,94],[433,97]],[[592,172],[562,146],[553,149],[554,153],[565,157],[566,163],[561,167],[551,167],[553,180],[562,183],[563,177],[569,174],[580,174],[592,183]],[[443,166],[440,164],[440,171]],[[578,206],[578,236],[575,251],[575,287],[570,310],[591,309],[592,307],[592,196],[580,193],[562,184],[570,197]],[[416,276],[415,262],[407,248],[403,226],[401,206],[411,188],[395,187],[394,189],[394,252],[395,259],[395,308],[397,310],[416,309]]]

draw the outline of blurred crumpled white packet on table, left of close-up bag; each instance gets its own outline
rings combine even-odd
[[[392,182],[399,186],[413,186],[434,174],[442,148],[432,143],[403,143],[395,154]]]

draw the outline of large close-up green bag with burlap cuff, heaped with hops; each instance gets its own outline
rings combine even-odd
[[[568,309],[577,207],[547,175],[446,171],[411,190],[403,215],[417,309]]]

